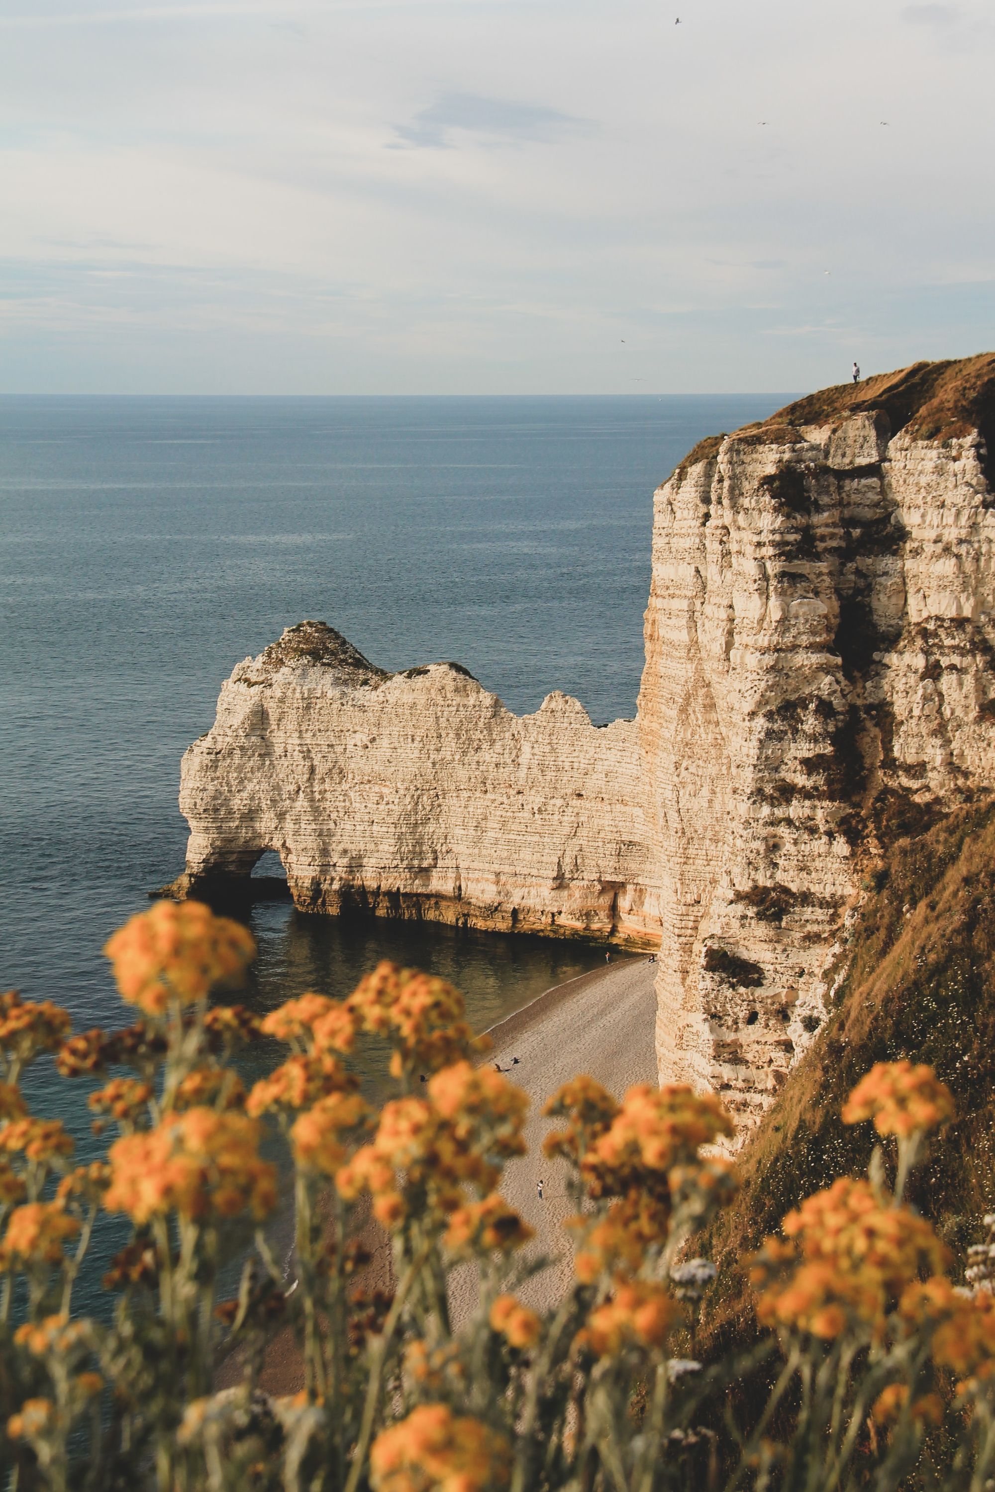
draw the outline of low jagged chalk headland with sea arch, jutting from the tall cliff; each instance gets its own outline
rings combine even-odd
[[[279,852],[298,907],[656,941],[633,721],[516,716],[458,664],[386,674],[322,622],[221,691],[183,758],[188,885]]]

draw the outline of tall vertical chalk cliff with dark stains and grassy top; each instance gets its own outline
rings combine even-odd
[[[656,492],[658,1059],[744,1119],[822,1019],[882,837],[995,779],[994,388],[983,358],[828,391]]]

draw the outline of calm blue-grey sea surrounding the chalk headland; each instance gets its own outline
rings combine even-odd
[[[182,868],[182,752],[301,618],[385,668],[456,659],[513,710],[556,688],[631,716],[653,488],[786,398],[0,398],[0,988],[121,1024],[100,947]],[[389,956],[483,1028],[600,956],[282,903],[251,924],[260,1009]],[[27,1086],[88,1155],[87,1089]]]

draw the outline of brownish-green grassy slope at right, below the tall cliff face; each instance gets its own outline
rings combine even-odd
[[[741,1162],[743,1185],[712,1240],[721,1286],[715,1346],[749,1331],[735,1261],[837,1176],[865,1170],[870,1123],[840,1109],[874,1062],[929,1062],[950,1086],[956,1119],[934,1138],[911,1201],[962,1253],[995,1210],[995,800],[898,840],[868,882],[850,930],[843,982],[817,1038],[791,1073]]]

